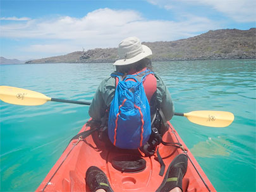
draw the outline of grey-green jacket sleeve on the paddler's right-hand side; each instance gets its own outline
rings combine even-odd
[[[158,75],[155,75],[155,78],[157,79],[157,102],[159,102],[166,121],[169,121],[174,115],[173,100],[164,81]]]

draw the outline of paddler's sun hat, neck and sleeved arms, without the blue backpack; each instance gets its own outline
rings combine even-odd
[[[147,58],[152,54],[149,47],[140,44],[136,37],[130,37],[119,44],[118,54],[121,59],[116,61],[116,72],[125,75],[136,75],[146,68],[151,69],[151,61]],[[102,122],[114,98],[116,78],[109,76],[101,82],[90,105],[89,115],[94,121]],[[148,75],[143,81],[143,87],[150,104],[150,112],[154,114],[158,107],[162,110],[166,121],[174,114],[171,95],[161,78],[154,73]]]

